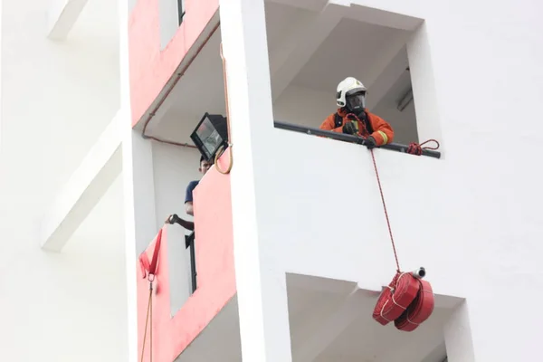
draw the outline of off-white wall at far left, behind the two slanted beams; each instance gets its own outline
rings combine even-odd
[[[3,2],[0,331],[10,361],[123,361],[126,291],[118,183],[61,254],[46,208],[119,109],[117,3],[90,1],[65,42],[49,2]]]

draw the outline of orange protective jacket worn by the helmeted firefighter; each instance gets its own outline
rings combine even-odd
[[[376,139],[377,146],[385,145],[392,142],[394,139],[394,130],[392,129],[392,127],[390,127],[390,124],[388,124],[385,119],[382,119],[379,116],[368,112],[367,110],[366,113],[369,125],[364,124],[364,122],[361,120],[356,121],[358,123],[358,135],[364,137],[368,135],[373,136],[373,138]],[[352,122],[353,120],[346,118],[348,112],[343,109],[338,109],[338,115],[342,119],[340,126],[337,126],[336,123],[336,113],[332,113],[327,119],[324,120],[324,122],[322,122],[319,129],[331,130],[334,132],[342,133],[343,125],[346,122]],[[367,126],[369,126],[369,129],[367,128]]]

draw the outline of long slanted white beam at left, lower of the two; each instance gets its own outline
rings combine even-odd
[[[119,176],[122,169],[119,119],[118,113],[45,214],[40,237],[43,249],[62,251],[71,235]]]

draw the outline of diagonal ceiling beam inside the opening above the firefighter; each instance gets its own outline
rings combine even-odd
[[[327,5],[319,14],[300,22],[293,33],[287,34],[281,46],[275,47],[270,61],[271,91],[277,100],[302,67],[310,60],[320,44],[329,36],[342,18],[341,6]]]

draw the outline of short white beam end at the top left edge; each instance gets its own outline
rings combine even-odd
[[[89,0],[52,0],[47,36],[54,40],[66,39],[88,2]]]

